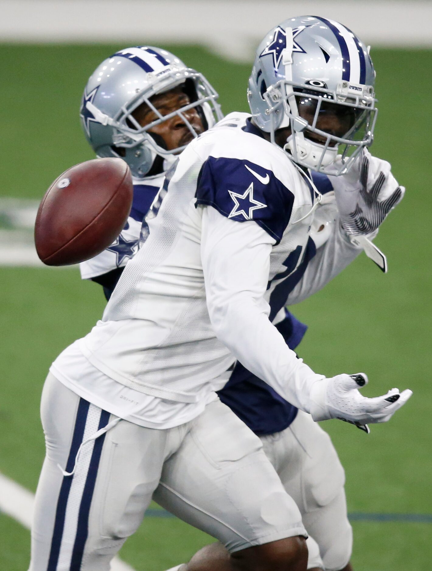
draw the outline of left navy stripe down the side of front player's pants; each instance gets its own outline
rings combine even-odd
[[[71,472],[75,464],[75,456],[77,456],[78,448],[82,443],[84,429],[86,427],[87,413],[89,412],[90,403],[84,399],[79,399],[77,417],[75,419],[74,434],[70,445],[69,457],[66,464],[66,472]],[[57,509],[55,512],[53,539],[51,540],[51,551],[48,560],[47,571],[55,571],[57,569],[58,556],[63,536],[63,528],[65,527],[66,505],[69,497],[70,486],[73,478],[64,476],[60,493],[57,501]]]

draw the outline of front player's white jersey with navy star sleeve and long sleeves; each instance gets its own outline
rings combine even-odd
[[[178,403],[221,388],[238,359],[308,411],[310,385],[322,376],[271,321],[290,281],[315,259],[310,287],[301,279],[295,295],[317,291],[358,254],[334,224],[313,258],[317,191],[309,176],[248,115],[230,114],[189,144],[159,194],[166,196],[157,216],[147,216],[145,242],[102,320],[79,341],[83,354],[118,383]]]

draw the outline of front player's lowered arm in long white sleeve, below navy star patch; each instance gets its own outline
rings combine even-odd
[[[258,224],[203,207],[201,259],[216,335],[249,371],[309,412],[311,385],[324,377],[297,359],[269,321],[264,293],[274,243]]]

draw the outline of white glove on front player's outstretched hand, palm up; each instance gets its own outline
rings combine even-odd
[[[356,425],[386,423],[413,394],[391,389],[386,395],[367,399],[358,388],[367,384],[365,373],[337,375],[312,385],[310,414],[316,420],[340,419]]]

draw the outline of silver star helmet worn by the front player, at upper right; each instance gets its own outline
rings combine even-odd
[[[373,142],[374,81],[369,49],[349,29],[299,16],[270,30],[258,46],[247,95],[271,142],[278,129],[290,128],[283,148],[295,163],[340,175]],[[342,166],[335,171],[338,154]]]

